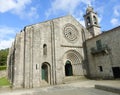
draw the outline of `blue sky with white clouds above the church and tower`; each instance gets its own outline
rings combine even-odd
[[[98,13],[102,31],[120,25],[119,0],[0,0],[0,49],[11,47],[25,26],[71,14],[83,26],[87,6]]]

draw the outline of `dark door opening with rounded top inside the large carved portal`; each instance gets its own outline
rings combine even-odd
[[[71,62],[69,60],[67,60],[66,64],[65,64],[65,75],[66,76],[73,75],[72,65],[71,65]]]

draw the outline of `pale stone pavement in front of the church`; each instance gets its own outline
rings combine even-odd
[[[120,87],[119,80],[80,80],[73,83],[42,88],[19,90],[0,89],[0,95],[120,95],[95,89],[95,84]]]

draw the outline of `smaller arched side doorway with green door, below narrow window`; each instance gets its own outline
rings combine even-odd
[[[49,72],[50,72],[50,66],[48,63],[43,63],[42,64],[42,80],[45,80],[47,83],[49,82]]]

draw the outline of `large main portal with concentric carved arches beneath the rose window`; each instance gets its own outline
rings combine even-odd
[[[65,52],[63,57],[65,76],[83,75],[82,56],[75,50]]]

